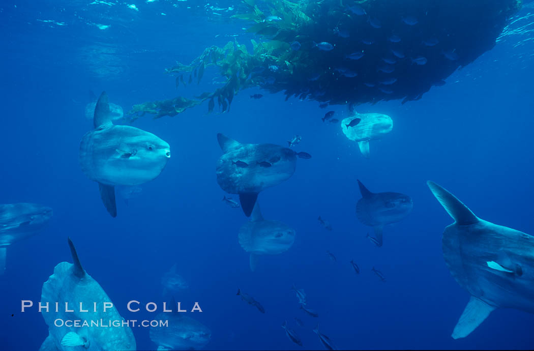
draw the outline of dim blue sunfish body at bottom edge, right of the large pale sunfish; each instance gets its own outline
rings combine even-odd
[[[158,345],[159,350],[200,350],[211,339],[207,326],[184,313],[160,313],[154,319],[169,321],[167,327],[150,328],[150,340]]]

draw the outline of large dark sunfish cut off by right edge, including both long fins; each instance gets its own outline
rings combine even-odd
[[[438,184],[427,184],[454,220],[443,232],[443,258],[470,294],[452,337],[468,336],[497,308],[534,313],[534,237],[484,221]]]

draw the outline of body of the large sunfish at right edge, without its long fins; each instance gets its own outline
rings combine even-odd
[[[484,220],[451,224],[443,232],[443,258],[452,276],[474,297],[494,307],[534,313],[534,237]],[[494,261],[522,274],[488,267]]]

